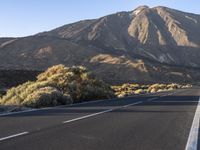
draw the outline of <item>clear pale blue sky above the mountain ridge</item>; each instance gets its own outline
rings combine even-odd
[[[1,0],[0,37],[21,37],[64,24],[129,11],[139,5],[167,6],[200,14],[199,0]]]

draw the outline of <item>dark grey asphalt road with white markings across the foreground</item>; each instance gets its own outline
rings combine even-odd
[[[196,149],[199,95],[181,89],[0,116],[0,150]]]

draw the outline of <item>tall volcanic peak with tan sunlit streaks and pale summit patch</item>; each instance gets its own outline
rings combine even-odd
[[[78,30],[77,30],[78,29]],[[96,20],[66,25],[40,35],[82,45],[128,51],[168,64],[199,67],[200,16],[166,7],[141,6]]]

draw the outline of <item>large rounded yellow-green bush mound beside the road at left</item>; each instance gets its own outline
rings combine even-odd
[[[82,66],[57,65],[37,76],[37,80],[11,88],[1,105],[47,107],[84,100],[112,98],[113,90]]]

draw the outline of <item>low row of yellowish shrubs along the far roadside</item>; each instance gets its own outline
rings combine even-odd
[[[180,85],[180,84],[153,84],[153,85],[139,85],[139,84],[123,84],[119,86],[112,86],[112,89],[115,91],[117,97],[125,97],[136,94],[145,94],[145,93],[155,93],[163,92],[180,88],[190,88],[192,85]]]

